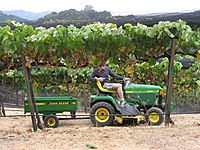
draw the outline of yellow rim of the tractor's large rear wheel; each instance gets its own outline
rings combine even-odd
[[[98,122],[106,122],[109,119],[109,111],[106,108],[99,108],[95,112],[95,119]]]

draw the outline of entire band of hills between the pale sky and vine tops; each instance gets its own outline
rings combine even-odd
[[[102,23],[115,23],[118,26],[123,26],[125,23],[131,23],[136,25],[137,23],[146,24],[152,26],[159,21],[176,21],[182,19],[191,26],[200,26],[200,10],[191,12],[177,12],[177,13],[157,13],[146,15],[127,15],[127,16],[113,16],[108,11],[97,12],[95,10],[81,10],[69,9],[61,12],[42,12],[32,13],[26,11],[10,11],[5,12],[7,14],[15,14],[21,16],[21,18],[14,15],[6,15],[0,13],[0,25],[6,25],[6,20],[16,20],[19,22],[26,22],[34,27],[44,26],[46,28],[55,27],[58,24],[69,26],[74,24],[77,27],[88,25],[96,21]],[[27,18],[27,19],[22,19]]]

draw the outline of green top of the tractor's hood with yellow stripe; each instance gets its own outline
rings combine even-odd
[[[160,86],[145,84],[130,84],[124,87],[126,93],[130,92],[159,92],[162,90]]]

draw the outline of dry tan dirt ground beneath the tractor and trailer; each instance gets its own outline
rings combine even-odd
[[[6,108],[6,114],[23,110]],[[199,150],[200,114],[172,115],[172,120],[173,127],[94,127],[88,119],[61,120],[58,128],[33,132],[28,116],[0,117],[0,150]]]

